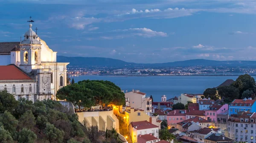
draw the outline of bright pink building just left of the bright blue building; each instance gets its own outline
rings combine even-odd
[[[212,105],[205,110],[205,114],[208,121],[217,123],[217,115],[220,113],[227,112],[228,104],[224,105]]]

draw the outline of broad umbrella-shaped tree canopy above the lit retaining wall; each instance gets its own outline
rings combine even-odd
[[[125,104],[125,94],[120,87],[110,81],[84,80],[77,84],[67,85],[58,90],[57,98],[72,102],[74,105],[91,107],[96,101],[101,101],[105,105],[113,103],[115,105]]]

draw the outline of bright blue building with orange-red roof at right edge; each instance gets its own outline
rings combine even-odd
[[[238,112],[256,112],[255,100],[251,98],[235,99],[229,105],[229,116]]]

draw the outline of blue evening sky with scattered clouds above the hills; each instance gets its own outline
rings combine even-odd
[[[33,29],[63,56],[256,60],[255,0],[0,0],[0,42]],[[23,39],[23,37],[22,37]]]

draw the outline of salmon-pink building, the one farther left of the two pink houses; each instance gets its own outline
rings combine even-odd
[[[187,110],[173,110],[167,115],[168,125],[172,128],[175,127],[176,123],[186,120],[186,112]]]

